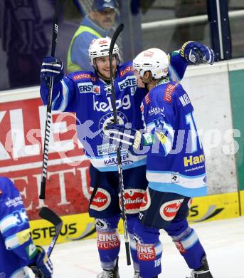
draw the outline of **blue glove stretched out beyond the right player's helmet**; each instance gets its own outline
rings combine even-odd
[[[181,56],[186,59],[189,63],[210,63],[214,62],[215,54],[211,48],[204,46],[204,44],[196,41],[187,41],[181,47]]]

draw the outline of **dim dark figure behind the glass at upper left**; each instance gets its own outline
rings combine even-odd
[[[36,0],[3,0],[0,5],[1,43],[7,53],[11,88],[38,85],[48,41]]]

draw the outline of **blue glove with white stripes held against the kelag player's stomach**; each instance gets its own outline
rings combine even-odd
[[[140,149],[154,143],[154,137],[151,133],[140,133],[139,130],[134,128],[126,128],[125,125],[111,124],[107,125],[105,129],[107,130],[107,136],[110,138],[110,143],[122,150]]]

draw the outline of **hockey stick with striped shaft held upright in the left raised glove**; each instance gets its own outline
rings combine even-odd
[[[58,36],[58,11],[60,9],[60,0],[56,0],[55,11],[53,17],[53,38],[52,38],[52,48],[51,56],[55,57],[55,49],[57,44]],[[51,121],[52,121],[52,94],[53,94],[53,76],[51,76],[49,81],[48,88],[48,105],[46,112],[46,127],[44,135],[44,150],[43,150],[43,171],[41,173],[41,191],[39,199],[45,199],[45,190],[46,190],[46,177],[47,177],[47,168],[48,168],[48,149],[49,149],[49,138],[51,132]]]

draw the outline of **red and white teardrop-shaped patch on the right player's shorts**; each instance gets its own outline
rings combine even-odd
[[[183,201],[184,199],[165,202],[159,209],[161,217],[166,221],[173,220]]]

